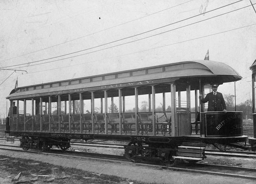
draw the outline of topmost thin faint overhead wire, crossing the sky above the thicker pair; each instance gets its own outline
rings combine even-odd
[[[107,29],[103,29],[103,30],[100,30],[100,31],[97,31],[97,32],[94,32],[94,33],[91,33],[91,34],[88,34],[88,35],[85,35],[85,36],[81,36],[81,37],[78,37],[78,38],[75,38],[75,39],[72,39],[72,40],[68,40],[68,41],[65,41],[65,42],[62,42],[62,43],[59,43],[59,44],[56,44],[56,45],[52,45],[52,46],[50,46],[50,47],[46,47],[46,48],[42,48],[42,49],[39,49],[39,50],[35,50],[35,51],[33,51],[33,52],[29,52],[29,53],[26,53],[26,54],[22,54],[22,55],[20,55],[20,56],[8,58],[8,59],[2,60],[2,61],[0,61],[0,62],[8,61],[8,60],[15,59],[15,58],[18,58],[18,57],[21,57],[21,56],[26,56],[26,55],[31,54],[31,53],[35,53],[35,52],[38,52],[38,51],[42,51],[42,50],[45,50],[45,49],[48,49],[48,48],[52,48],[52,47],[55,47],[55,46],[58,46],[58,45],[62,45],[62,44],[65,44],[65,43],[68,43],[68,42],[71,42],[71,41],[74,41],[74,40],[78,40],[78,39],[81,39],[81,38],[85,38],[85,37],[87,37],[87,36],[91,36],[91,35],[94,35],[94,34],[96,34],[96,33],[100,33],[100,32],[102,32],[102,31],[106,31],[106,30],[109,30],[109,29],[112,29],[112,28],[115,28],[115,27],[118,27],[118,26],[121,26],[121,25],[130,23],[130,22],[133,22],[133,21],[137,21],[137,20],[139,20],[139,19],[143,19],[143,18],[145,18],[145,17],[147,17],[147,16],[150,16],[150,15],[153,15],[153,14],[156,14],[156,13],[159,13],[159,12],[162,12],[162,11],[165,11],[165,10],[167,10],[167,9],[171,9],[171,8],[174,8],[174,7],[177,7],[177,6],[186,4],[186,3],[191,2],[191,1],[194,1],[194,0],[186,1],[186,2],[184,2],[184,3],[181,3],[181,4],[178,4],[178,5],[175,5],[175,6],[172,6],[172,7],[169,7],[169,8],[166,8],[166,9],[163,9],[163,10],[160,10],[160,11],[157,11],[157,12],[154,12],[154,13],[151,13],[151,14],[148,14],[148,15],[145,15],[145,16],[142,16],[142,17],[139,17],[139,18],[137,18],[137,19],[134,19],[134,20],[131,20],[131,21],[122,23],[122,24],[118,24],[118,25],[113,26],[113,27],[109,27],[109,28],[107,28]]]

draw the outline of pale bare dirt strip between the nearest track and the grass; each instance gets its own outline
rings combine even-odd
[[[238,179],[232,177],[195,174],[181,171],[170,171],[163,169],[146,168],[142,166],[126,165],[118,163],[109,163],[96,160],[84,160],[80,158],[58,157],[52,155],[29,154],[20,152],[10,152],[0,150],[0,155],[9,156],[11,158],[32,159],[35,161],[42,161],[51,163],[62,167],[70,167],[81,169],[89,173],[114,175],[128,180],[137,180],[145,183],[226,183],[226,184],[241,184],[241,183],[255,183],[255,180]],[[235,161],[235,160],[234,160]],[[251,161],[251,160],[249,160]],[[23,169],[20,169],[22,172]],[[127,182],[128,183],[128,182]]]

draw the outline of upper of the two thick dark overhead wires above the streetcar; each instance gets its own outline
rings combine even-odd
[[[220,9],[220,8],[223,8],[223,7],[226,7],[226,6],[230,6],[230,5],[235,4],[235,3],[238,3],[238,2],[240,2],[240,1],[243,1],[243,0],[239,0],[239,1],[236,1],[236,2],[233,2],[233,3],[230,3],[230,4],[227,4],[227,5],[224,5],[224,6],[215,8],[215,9],[213,9],[213,10],[206,11],[206,12],[204,12],[204,14],[205,14],[205,13],[212,12],[212,11],[215,11],[215,10],[217,10],[217,9]],[[157,30],[157,29],[161,29],[161,28],[164,28],[164,27],[173,25],[173,24],[180,23],[180,22],[185,21],[185,20],[192,19],[192,18],[197,17],[197,16],[199,16],[199,15],[201,15],[201,13],[200,13],[200,14],[197,14],[197,15],[194,15],[194,16],[191,16],[191,17],[188,17],[188,18],[186,18],[186,19],[183,19],[183,20],[180,20],[180,21],[177,21],[177,22],[174,22],[174,23],[165,25],[165,26],[161,26],[161,27],[158,27],[158,28],[155,28],[155,29],[146,31],[146,32],[142,32],[142,33],[139,33],[139,34],[136,34],[136,35],[132,35],[132,36],[126,37],[126,38],[122,38],[122,39],[119,39],[119,40],[115,40],[115,41],[111,41],[111,42],[104,43],[104,44],[101,44],[101,45],[97,45],[97,46],[94,46],[94,47],[91,47],[91,48],[87,48],[87,49],[83,49],[83,50],[79,50],[79,51],[75,51],[75,52],[63,54],[63,55],[61,55],[61,56],[56,56],[56,57],[52,57],[52,58],[47,58],[47,59],[43,59],[43,60],[38,60],[38,61],[28,62],[28,63],[23,63],[23,64],[18,64],[18,65],[5,66],[5,67],[0,67],[0,68],[7,68],[7,67],[14,67],[14,66],[27,65],[27,64],[31,64],[31,63],[37,63],[37,62],[41,62],[41,61],[45,61],[45,60],[50,60],[50,59],[55,59],[55,58],[67,56],[67,55],[70,55],[70,54],[74,54],[74,53],[82,52],[82,51],[85,51],[85,50],[97,48],[97,47],[104,46],[104,45],[107,45],[107,44],[110,44],[110,43],[114,43],[114,42],[117,42],[117,41],[121,41],[121,40],[124,40],[124,39],[127,39],[127,38],[132,38],[132,37],[135,37],[135,36],[138,36],[138,35],[141,35],[141,34],[145,34],[145,33],[151,32],[151,31],[155,31],[155,30]],[[151,37],[151,36],[150,36],[150,37]],[[147,38],[147,37],[146,37],[146,38]],[[144,38],[144,39],[145,39],[145,38]],[[138,39],[138,40],[140,40],[140,39]],[[134,40],[134,41],[138,41],[138,40]],[[131,41],[131,42],[134,42],[134,41]],[[130,42],[127,42],[127,43],[130,43]],[[127,43],[125,43],[125,44],[127,44]],[[119,44],[119,45],[123,45],[123,44]],[[119,45],[117,45],[117,46],[119,46]],[[115,47],[115,46],[112,46],[112,47]],[[108,47],[108,48],[112,48],[112,47]],[[103,50],[103,49],[100,49],[100,50]],[[98,51],[100,51],[100,50],[98,50]],[[94,51],[94,52],[95,52],[95,51]],[[89,53],[92,53],[92,52],[89,52]],[[77,55],[77,56],[82,56],[82,55],[83,55],[83,54],[80,54],[80,55]],[[75,56],[75,57],[77,57],[77,56]],[[74,56],[73,56],[73,57],[74,57]],[[69,59],[69,58],[73,58],[73,57],[68,57],[68,58],[65,58],[65,59]],[[61,60],[62,60],[62,59],[61,59]],[[59,61],[59,60],[55,60],[55,61]],[[48,62],[45,62],[45,63],[48,63]],[[34,65],[30,65],[30,66],[34,66]],[[25,67],[27,67],[27,66],[25,66]],[[22,68],[22,67],[19,67],[19,68]]]

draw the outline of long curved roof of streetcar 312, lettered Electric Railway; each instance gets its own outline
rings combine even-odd
[[[14,99],[15,97],[20,98],[21,96],[28,98],[29,96],[33,96],[33,94],[46,95],[47,93],[49,93],[48,95],[54,95],[52,93],[57,91],[76,93],[72,90],[82,88],[85,91],[86,88],[100,90],[100,86],[136,83],[156,79],[158,79],[159,83],[174,83],[178,79],[199,80],[199,78],[204,79],[203,81],[206,83],[213,82],[214,80],[214,82],[218,82],[219,84],[242,79],[234,69],[224,63],[209,60],[194,60],[19,87],[17,91],[12,90],[6,98]]]

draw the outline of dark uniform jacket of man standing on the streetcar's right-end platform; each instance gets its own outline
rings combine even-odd
[[[226,103],[222,96],[222,93],[217,92],[214,95],[213,92],[208,93],[205,98],[201,100],[202,103],[208,102],[207,111],[223,111],[226,109]]]

